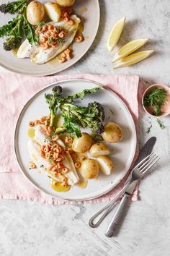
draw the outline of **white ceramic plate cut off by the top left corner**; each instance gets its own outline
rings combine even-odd
[[[1,4],[7,3],[9,0],[2,0]],[[10,0],[12,1],[12,0]],[[45,0],[39,0],[45,2]],[[52,0],[50,0],[52,1]],[[99,1],[98,0],[76,0],[74,7],[76,14],[80,14],[84,18],[84,38],[82,43],[73,43],[73,59],[59,64],[57,60],[50,61],[46,64],[32,64],[30,59],[17,59],[11,51],[7,52],[3,49],[3,39],[0,38],[0,65],[12,72],[20,74],[28,74],[32,76],[44,76],[61,72],[71,67],[79,59],[81,59],[94,41],[99,27]],[[1,14],[1,13],[0,13]],[[0,26],[12,20],[12,15],[1,14]]]

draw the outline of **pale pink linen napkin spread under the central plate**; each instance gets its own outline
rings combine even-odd
[[[130,109],[138,135],[138,76],[128,75],[94,75],[74,74],[51,77],[28,77],[12,72],[0,74],[0,197],[4,199],[33,200],[35,202],[48,202],[54,205],[75,203],[45,195],[36,189],[19,170],[14,156],[14,128],[17,117],[27,101],[52,82],[60,80],[82,78],[94,80],[107,85],[126,103]],[[78,90],[81,88],[78,88]],[[138,154],[138,147],[136,155]],[[135,156],[136,156],[135,155]],[[115,189],[102,197],[81,202],[108,202],[125,184],[127,176],[122,179]],[[135,189],[132,200],[138,199],[138,189]]]

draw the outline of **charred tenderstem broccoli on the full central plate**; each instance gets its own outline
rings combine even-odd
[[[80,127],[90,127],[94,134],[104,132],[104,108],[97,102],[89,103],[88,106],[77,106],[74,99],[83,99],[87,93],[95,93],[99,87],[83,90],[63,97],[61,86],[55,86],[53,93],[45,95],[46,102],[50,108],[50,126],[54,125],[54,119],[60,109],[63,117],[63,127],[55,129],[55,133],[69,132],[75,133],[77,137],[81,137]]]

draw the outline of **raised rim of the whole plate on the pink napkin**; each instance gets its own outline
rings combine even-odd
[[[133,128],[135,129],[135,142],[134,142],[134,149],[133,149],[133,159],[132,161],[130,162],[128,168],[127,168],[127,171],[125,172],[125,174],[122,174],[122,177],[117,180],[117,182],[112,186],[112,187],[109,187],[109,189],[107,189],[105,192],[101,192],[99,193],[99,195],[94,195],[93,197],[76,197],[76,199],[69,199],[69,198],[66,198],[66,197],[63,197],[63,196],[60,196],[60,195],[50,195],[50,193],[48,192],[45,192],[44,190],[42,190],[40,187],[38,187],[35,182],[32,182],[32,180],[29,178],[29,176],[27,175],[26,172],[24,172],[22,170],[22,162],[19,163],[19,149],[18,149],[18,145],[17,145],[17,137],[18,137],[18,131],[19,131],[19,123],[22,119],[22,113],[25,111],[25,109],[27,108],[27,106],[29,106],[30,102],[34,100],[34,98],[38,95],[40,95],[40,93],[42,93],[43,90],[47,90],[48,88],[50,88],[52,85],[57,85],[57,84],[60,84],[62,82],[73,82],[73,81],[84,81],[84,82],[91,82],[93,83],[94,85],[102,85],[102,88],[104,88],[105,90],[109,90],[110,93],[113,93],[115,95],[116,98],[119,99],[119,101],[123,104],[123,106],[125,106],[126,110],[128,111],[128,114],[130,116],[130,119],[132,121],[132,124],[133,124]],[[128,174],[128,171],[130,170],[130,166],[132,165],[133,161],[134,161],[134,158],[135,158],[135,152],[136,152],[136,147],[137,147],[137,129],[135,127],[135,121],[133,119],[133,116],[128,108],[128,106],[125,104],[124,101],[122,101],[122,98],[120,98],[119,95],[117,95],[117,93],[115,93],[112,89],[110,88],[107,88],[106,85],[103,85],[102,83],[100,82],[97,82],[97,81],[94,81],[94,80],[88,80],[88,79],[82,79],[82,78],[78,78],[78,79],[68,79],[68,80],[61,80],[61,81],[57,81],[57,82],[52,82],[50,84],[48,84],[47,86],[45,86],[45,88],[42,88],[41,90],[39,90],[37,93],[35,93],[35,95],[32,96],[32,98],[30,98],[27,103],[24,104],[22,110],[20,111],[19,113],[19,116],[17,117],[17,122],[15,124],[15,129],[14,129],[14,155],[15,155],[15,158],[17,160],[17,164],[19,166],[19,169],[22,171],[22,174],[24,176],[27,177],[27,179],[29,180],[29,182],[36,188],[36,189],[39,189],[42,193],[44,193],[45,195],[48,195],[50,197],[53,197],[53,198],[56,198],[58,200],[68,200],[68,201],[80,201],[80,200],[92,200],[92,199],[95,199],[95,198],[98,198],[98,197],[101,197],[102,195],[106,195],[108,192],[110,192],[112,189],[114,189],[117,184],[119,184],[121,182],[121,180],[126,176],[126,174]]]

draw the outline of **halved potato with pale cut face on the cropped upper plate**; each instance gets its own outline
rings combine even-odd
[[[48,2],[44,4],[45,7],[45,13],[48,15],[50,20],[53,20],[53,22],[58,22],[61,17],[61,7],[53,2]]]

